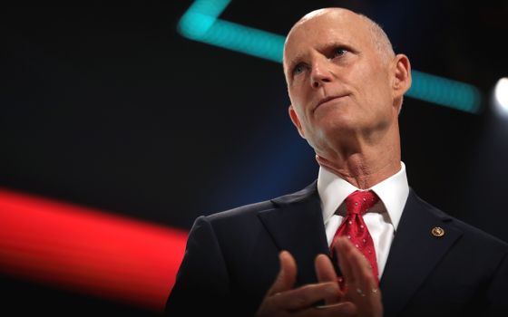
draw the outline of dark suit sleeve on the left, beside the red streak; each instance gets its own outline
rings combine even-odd
[[[230,281],[219,242],[207,217],[190,230],[176,283],[166,303],[171,316],[220,316],[230,307]]]

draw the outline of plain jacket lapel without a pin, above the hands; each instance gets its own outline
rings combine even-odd
[[[260,213],[259,218],[278,249],[295,257],[298,284],[315,283],[314,258],[328,252],[316,182],[272,202],[276,207]]]

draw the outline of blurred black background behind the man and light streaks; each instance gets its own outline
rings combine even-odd
[[[191,3],[3,6],[0,187],[187,230],[197,216],[317,178],[288,119],[282,66],[181,37]],[[372,17],[415,70],[482,91],[479,114],[406,98],[403,160],[419,196],[508,241],[508,124],[490,110],[508,75],[508,3],[238,0],[220,18],[284,35],[325,6]],[[10,276],[0,283],[19,312],[138,313]]]

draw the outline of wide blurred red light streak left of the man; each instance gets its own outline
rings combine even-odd
[[[187,232],[0,189],[0,272],[161,312]]]

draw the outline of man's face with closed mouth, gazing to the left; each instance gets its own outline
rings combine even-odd
[[[382,60],[371,36],[363,19],[337,10],[308,17],[288,35],[289,112],[318,154],[397,120],[392,62]]]

